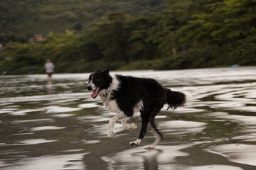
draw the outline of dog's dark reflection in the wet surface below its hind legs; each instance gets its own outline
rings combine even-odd
[[[132,154],[132,157],[141,157],[144,162],[145,170],[156,170],[158,169],[157,157],[163,152],[161,149],[146,149],[145,152],[138,152]]]

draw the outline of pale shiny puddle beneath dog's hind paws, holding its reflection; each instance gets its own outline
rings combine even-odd
[[[158,146],[157,149],[136,147],[127,149],[110,157],[101,157],[109,169],[161,169],[161,164],[176,163],[176,157],[186,157],[188,153],[180,150],[191,145]],[[159,165],[160,164],[160,165]]]

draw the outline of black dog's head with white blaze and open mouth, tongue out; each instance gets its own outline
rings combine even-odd
[[[110,86],[111,81],[110,69],[98,70],[90,74],[87,89],[92,91],[91,97],[96,98],[100,91]]]

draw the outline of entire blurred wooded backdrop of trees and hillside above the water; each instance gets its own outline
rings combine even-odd
[[[254,0],[1,0],[0,72],[256,64]]]

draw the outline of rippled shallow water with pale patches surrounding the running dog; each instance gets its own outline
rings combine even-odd
[[[156,149],[149,131],[139,147],[139,114],[115,125],[100,98],[90,98],[89,74],[0,77],[0,169],[256,169],[256,67],[112,72],[151,77],[190,91],[186,108],[156,117],[164,140]]]

